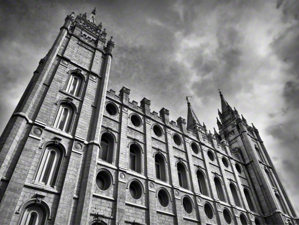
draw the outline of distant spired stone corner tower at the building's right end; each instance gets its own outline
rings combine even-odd
[[[244,188],[246,185],[242,182],[242,173],[248,173],[250,192],[252,196],[257,197],[255,205],[258,207],[254,209],[253,205],[248,204],[248,208],[263,214],[267,224],[294,224],[294,221],[298,223],[299,219],[258,130],[253,124],[248,125],[243,115],[240,118],[238,111],[232,109],[220,90],[219,94],[221,112],[218,110],[220,121],[217,118],[217,137],[220,142],[225,140],[229,143],[235,162],[239,161],[242,165],[237,171]],[[246,194],[244,197],[247,198]]]

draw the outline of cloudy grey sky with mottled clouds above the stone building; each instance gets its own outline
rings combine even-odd
[[[115,49],[109,89],[207,129],[218,88],[259,129],[299,212],[299,3],[295,1],[0,1],[0,132],[65,16],[90,14]]]

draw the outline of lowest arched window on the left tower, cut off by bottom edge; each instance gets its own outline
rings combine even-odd
[[[37,206],[31,206],[25,209],[20,225],[41,225],[45,224],[44,212]]]

